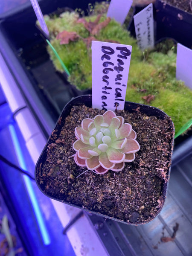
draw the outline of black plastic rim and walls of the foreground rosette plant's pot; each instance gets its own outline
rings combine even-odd
[[[45,184],[42,184],[39,180],[39,178],[41,177],[41,180],[42,180],[42,176],[41,176],[41,170],[42,170],[42,167],[44,166],[44,163],[47,159],[47,149],[48,149],[48,146],[51,145],[51,143],[55,142],[55,138],[54,136],[55,135],[59,135],[60,132],[61,132],[61,128],[63,127],[64,123],[65,123],[65,118],[70,114],[70,111],[71,111],[71,108],[73,106],[78,106],[78,105],[86,105],[87,107],[92,107],[92,96],[91,95],[84,95],[84,96],[78,96],[74,99],[72,99],[69,103],[67,103],[67,105],[64,107],[62,113],[61,113],[61,116],[59,117],[58,119],[58,122],[56,123],[56,126],[54,128],[54,135],[53,135],[53,132],[52,132],[52,135],[49,137],[48,141],[47,141],[47,144],[45,145],[39,159],[38,159],[38,162],[35,166],[35,180],[36,180],[36,183],[39,187],[39,189],[41,190],[41,192],[44,193],[44,189],[45,189]],[[125,110],[126,111],[129,111],[130,113],[133,113],[134,111],[137,110],[137,108],[140,108],[140,112],[143,113],[143,114],[147,114],[148,116],[157,116],[159,119],[164,119],[165,117],[167,117],[166,113],[164,113],[163,111],[157,109],[157,108],[154,108],[154,107],[151,107],[151,106],[147,106],[147,105],[142,105],[142,104],[137,104],[137,103],[134,103],[134,102],[125,102]],[[174,142],[174,125],[172,123],[172,129],[173,131],[173,134],[172,134],[172,141],[170,142],[170,148],[171,148],[171,152],[170,152],[170,156],[172,157],[172,150],[173,150],[173,142]],[[56,137],[57,137],[56,136]],[[171,157],[169,159],[169,162],[170,162],[170,166],[171,166]],[[168,163],[169,165],[169,163]],[[169,177],[170,177],[170,169],[171,167],[169,168],[169,173],[167,175],[167,181],[165,181],[162,185],[162,188],[161,188],[161,192],[162,192],[162,196],[163,196],[163,202],[162,202],[162,205],[160,207],[160,209],[158,210],[157,214],[155,215],[155,217],[158,215],[158,213],[160,212],[160,210],[162,209],[163,207],[163,204],[164,204],[164,201],[165,201],[165,198],[166,198],[166,192],[167,192],[167,189],[168,189],[168,184],[169,184]],[[44,193],[45,195],[47,195],[46,193]],[[57,198],[57,196],[50,196],[50,195],[47,195],[48,197],[52,198],[52,199],[55,199],[57,201],[61,201],[65,204],[70,204],[70,202],[67,202],[67,201],[63,201],[59,198]],[[73,204],[70,204],[72,206],[76,206],[76,205],[73,205]],[[83,209],[79,206],[76,206],[80,209]],[[93,212],[91,210],[88,210],[88,212],[91,212],[91,213],[95,213],[95,214],[99,214],[100,216],[103,216],[105,218],[111,218],[107,215],[104,215],[102,213],[97,213],[97,212]],[[154,217],[154,218],[155,218]],[[119,219],[117,218],[111,218],[113,220],[116,220],[116,221],[120,221]],[[151,219],[152,220],[152,219]],[[150,221],[151,221],[150,220]],[[120,221],[120,222],[123,222],[123,223],[126,223],[126,224],[131,224],[131,225],[138,225],[138,224],[145,224],[145,223],[148,223],[149,221],[144,221],[144,222],[137,222],[137,223],[127,223],[125,221]]]

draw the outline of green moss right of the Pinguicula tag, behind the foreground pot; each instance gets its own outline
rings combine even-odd
[[[177,133],[192,117],[192,90],[175,78],[176,54],[151,52],[148,61],[131,64],[126,100],[146,104],[142,97],[154,95],[150,105],[171,116]]]

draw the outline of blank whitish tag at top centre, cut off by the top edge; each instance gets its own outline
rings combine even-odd
[[[132,3],[132,0],[111,0],[107,17],[115,19],[122,25],[128,15]]]

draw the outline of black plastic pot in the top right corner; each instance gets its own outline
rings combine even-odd
[[[181,9],[164,3],[162,0],[156,0],[154,3],[157,23],[156,39],[174,38],[180,44],[192,48],[192,14],[184,12]]]

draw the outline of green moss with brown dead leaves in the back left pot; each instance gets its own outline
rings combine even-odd
[[[105,15],[103,15],[100,22],[104,21],[105,18]],[[76,31],[81,38],[87,38],[89,35],[88,31],[84,28],[83,24],[75,23],[76,19],[77,14],[75,12],[66,12],[62,14],[62,18],[53,16],[53,18],[46,19],[46,23],[52,38],[51,44],[70,72],[69,81],[79,90],[85,90],[91,88],[91,50],[87,50],[82,39],[76,42],[70,42],[67,45],[60,45],[59,40],[55,38],[56,35],[63,30]],[[87,20],[93,21],[95,19],[96,16],[87,17]],[[69,20],[69,22],[66,22],[66,20]],[[137,47],[135,39],[131,38],[128,31],[122,29],[122,26],[115,20],[111,20],[108,26],[103,28],[96,38],[99,41],[114,40],[122,44],[130,44],[134,49],[132,58],[141,58],[140,50]],[[121,38],[121,40],[119,40],[119,38]],[[63,72],[61,63],[49,47],[48,52],[56,70]]]

